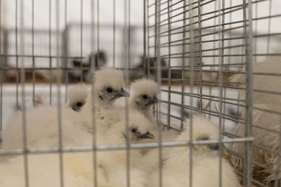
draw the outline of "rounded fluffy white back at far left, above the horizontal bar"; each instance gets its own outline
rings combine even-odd
[[[27,147],[58,147],[58,108],[39,105],[25,111]],[[68,106],[61,109],[63,146],[90,145],[87,126]],[[86,135],[85,135],[86,134]],[[13,113],[2,132],[1,148],[22,148],[22,111]]]

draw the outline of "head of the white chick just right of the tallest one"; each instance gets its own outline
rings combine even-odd
[[[158,102],[158,85],[155,81],[142,78],[131,84],[133,95],[130,97],[130,105],[138,110],[146,110]]]

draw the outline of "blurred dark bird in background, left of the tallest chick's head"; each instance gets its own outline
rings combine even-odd
[[[94,59],[94,63],[96,66],[96,69],[99,67],[105,67],[105,64],[107,62],[107,57],[105,52],[100,51],[99,53],[89,55],[89,59],[86,62],[83,62],[81,60],[72,60],[72,65],[74,68],[77,68],[77,70],[68,71],[68,81],[70,82],[76,82],[81,81],[89,81],[91,79],[90,76],[90,67],[91,67],[91,60]],[[79,68],[82,67],[82,75],[81,71],[79,71]]]

